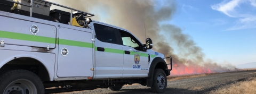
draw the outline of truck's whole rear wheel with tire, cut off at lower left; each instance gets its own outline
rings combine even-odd
[[[0,93],[44,93],[41,79],[27,70],[12,70],[0,75]]]

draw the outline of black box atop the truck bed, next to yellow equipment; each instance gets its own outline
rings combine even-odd
[[[70,12],[54,9],[50,11],[50,16],[58,20],[60,23],[68,24],[70,19]]]

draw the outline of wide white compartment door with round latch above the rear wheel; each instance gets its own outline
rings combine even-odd
[[[33,24],[39,28],[35,36],[30,32]],[[0,16],[0,28],[0,40],[4,40],[5,44],[31,47],[49,45],[50,48],[55,48],[56,28],[53,25]]]

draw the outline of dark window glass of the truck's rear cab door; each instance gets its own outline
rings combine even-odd
[[[100,25],[100,24],[93,24],[93,25],[94,25],[97,39],[99,39],[102,42],[117,44],[116,36],[113,28],[107,27],[105,25]]]

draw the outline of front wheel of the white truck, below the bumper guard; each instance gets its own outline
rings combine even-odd
[[[162,69],[155,69],[151,90],[156,93],[163,93],[165,92],[166,87],[167,78],[165,72]]]

